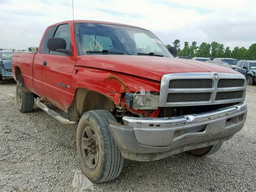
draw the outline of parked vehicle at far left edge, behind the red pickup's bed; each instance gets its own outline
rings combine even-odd
[[[0,51],[0,80],[13,78],[11,50]]]

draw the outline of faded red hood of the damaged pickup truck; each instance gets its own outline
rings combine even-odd
[[[78,66],[122,72],[156,81],[161,81],[162,76],[169,73],[225,72],[239,74],[235,70],[216,64],[158,56],[83,55],[76,58],[76,63]]]

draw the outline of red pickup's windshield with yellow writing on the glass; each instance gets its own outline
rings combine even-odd
[[[152,32],[140,28],[112,24],[76,23],[75,34],[79,55],[127,54],[145,56],[151,53],[151,56],[161,54],[173,57]],[[103,50],[104,52],[102,52]],[[111,52],[105,50],[111,50]]]

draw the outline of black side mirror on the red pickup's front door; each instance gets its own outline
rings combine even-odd
[[[66,49],[66,40],[64,40],[63,38],[50,38],[47,41],[47,48],[50,51],[55,51],[55,52],[60,52],[60,53],[64,53],[68,56],[72,55],[72,51],[69,49]]]

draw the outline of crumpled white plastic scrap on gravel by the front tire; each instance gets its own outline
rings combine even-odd
[[[94,190],[92,182],[80,170],[73,171],[75,172],[72,182],[74,192],[82,192],[86,189]]]

